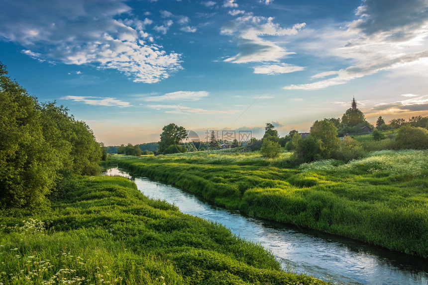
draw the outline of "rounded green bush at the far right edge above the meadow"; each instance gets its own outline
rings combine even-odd
[[[402,126],[398,130],[396,142],[399,148],[427,149],[428,131],[409,125]]]

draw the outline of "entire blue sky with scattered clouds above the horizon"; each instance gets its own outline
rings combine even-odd
[[[0,61],[106,145],[428,115],[427,0],[2,0]]]

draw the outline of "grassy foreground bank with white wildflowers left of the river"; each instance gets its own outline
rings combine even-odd
[[[37,213],[0,212],[0,284],[325,284],[261,245],[143,196],[121,177],[69,181]]]

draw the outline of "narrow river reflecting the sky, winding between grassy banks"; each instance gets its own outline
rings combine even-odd
[[[106,175],[132,179],[146,196],[165,200],[185,214],[217,221],[232,233],[261,243],[286,270],[338,284],[427,285],[428,260],[355,240],[256,219],[213,205],[168,184],[111,168]]]

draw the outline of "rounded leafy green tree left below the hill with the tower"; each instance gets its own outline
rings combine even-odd
[[[322,158],[329,158],[331,151],[339,146],[337,129],[333,123],[326,120],[315,121],[314,125],[312,125],[310,136],[319,141]]]

